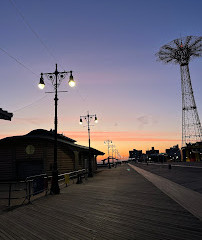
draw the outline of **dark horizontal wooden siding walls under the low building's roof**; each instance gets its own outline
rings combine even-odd
[[[26,152],[28,145],[34,146],[33,154]],[[58,171],[70,172],[85,168],[85,159],[88,160],[88,151],[58,142]],[[52,174],[54,163],[54,141],[47,139],[15,139],[0,144],[0,180],[16,179],[22,170],[21,163],[34,164],[42,162],[42,170]],[[96,169],[96,162],[92,156],[92,167]],[[87,163],[88,168],[88,163]],[[34,173],[33,173],[34,174]]]

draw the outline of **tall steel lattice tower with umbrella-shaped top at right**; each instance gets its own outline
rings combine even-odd
[[[187,36],[162,46],[157,59],[180,65],[182,88],[182,147],[202,141],[201,123],[189,73],[189,62],[202,56],[202,37]]]

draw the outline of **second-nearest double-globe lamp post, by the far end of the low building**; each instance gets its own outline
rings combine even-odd
[[[88,144],[89,144],[89,160],[88,160],[88,177],[93,177],[93,169],[92,169],[92,162],[91,162],[91,150],[90,150],[90,122],[92,118],[95,118],[95,123],[98,122],[96,114],[90,115],[89,112],[86,116],[80,116],[80,124],[83,123],[83,119],[86,120],[88,126]]]

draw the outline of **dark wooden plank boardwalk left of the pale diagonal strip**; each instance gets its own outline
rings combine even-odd
[[[128,165],[0,215],[1,240],[198,240],[202,222]]]

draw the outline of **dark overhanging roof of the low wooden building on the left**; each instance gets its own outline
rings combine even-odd
[[[54,130],[47,131],[45,129],[36,129],[25,135],[12,136],[12,137],[6,137],[3,139],[0,139],[0,144],[6,143],[6,142],[11,142],[11,141],[26,140],[26,139],[43,139],[43,140],[54,141]],[[86,146],[75,144],[76,140],[68,138],[68,137],[64,136],[63,134],[57,135],[57,141],[58,141],[58,143],[61,143],[61,144],[67,144],[68,147],[72,148],[73,150],[74,149],[75,150],[79,149],[79,150],[83,150],[83,151],[89,150],[89,148]],[[91,151],[95,155],[104,155],[105,154],[104,152],[101,152],[95,148],[91,148]]]

